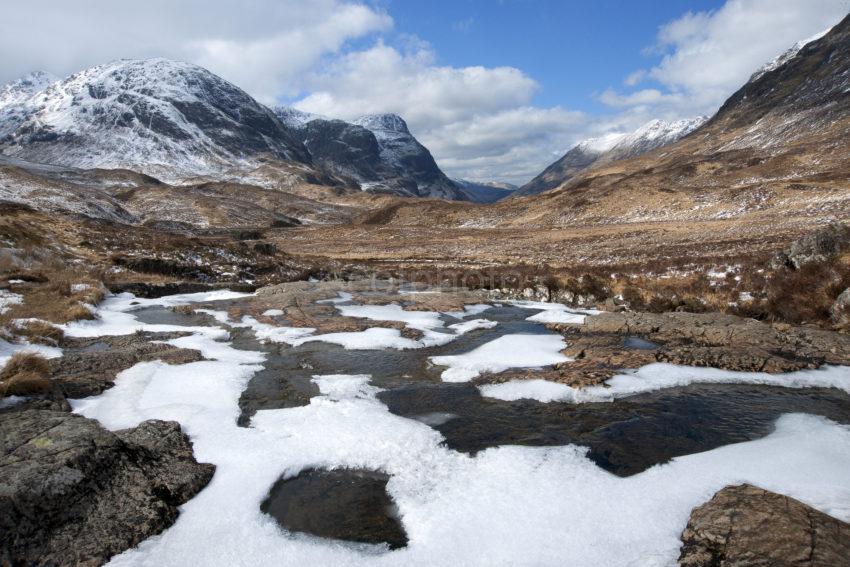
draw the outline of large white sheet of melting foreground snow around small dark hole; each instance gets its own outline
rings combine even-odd
[[[786,415],[763,439],[679,457],[629,478],[605,472],[574,445],[505,446],[475,457],[453,452],[435,430],[391,414],[365,375],[315,376],[322,395],[308,405],[259,411],[251,427],[241,428],[238,399],[264,354],[234,349],[212,336],[172,341],[199,348],[212,360],[140,363],[100,396],[73,401],[75,411],[110,429],[175,419],[191,436],[197,459],[217,465],[213,481],[181,507],[174,526],[116,556],[111,565],[669,566],[690,511],[720,488],[741,482],[850,520],[850,427],[824,418]],[[512,365],[528,352],[554,355],[563,346],[557,335],[520,336],[522,342],[508,335],[498,350],[498,339],[484,346],[495,355],[518,351],[508,357]],[[539,349],[541,343],[551,348]],[[722,374],[690,370],[702,378]],[[612,388],[633,391],[627,381],[638,378],[657,387],[678,383],[664,365],[639,372]],[[810,378],[801,377],[834,372],[793,376],[808,383]],[[387,489],[408,547],[382,552],[293,534],[260,511],[281,475],[311,467],[389,474]]]

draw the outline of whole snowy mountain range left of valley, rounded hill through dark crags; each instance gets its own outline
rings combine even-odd
[[[280,161],[315,165],[302,177],[324,177],[327,185],[468,198],[399,116],[348,123],[294,108],[272,111],[201,67],[166,59],[115,61],[64,80],[33,73],[5,85],[0,153],[132,169],[171,183]]]

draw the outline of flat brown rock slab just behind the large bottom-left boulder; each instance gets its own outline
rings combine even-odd
[[[134,333],[95,339],[65,338],[63,356],[51,360],[52,380],[69,398],[85,398],[111,388],[115,376],[131,366],[151,360],[185,364],[203,360],[197,350],[154,343],[179,337],[179,333]]]

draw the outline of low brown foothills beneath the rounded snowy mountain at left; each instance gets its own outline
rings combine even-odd
[[[287,172],[276,169],[274,177],[286,181]],[[297,193],[286,189],[238,178],[171,185],[130,170],[79,169],[0,155],[0,202],[166,231],[349,222],[378,199],[359,191],[333,197],[330,188],[303,182]]]

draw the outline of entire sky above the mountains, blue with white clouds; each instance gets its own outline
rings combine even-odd
[[[850,11],[850,0],[7,4],[0,83],[180,59],[266,104],[399,114],[450,176],[517,184],[588,137],[714,113],[761,65]]]

